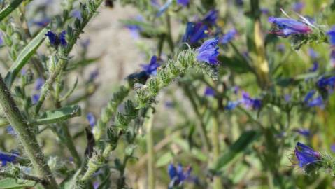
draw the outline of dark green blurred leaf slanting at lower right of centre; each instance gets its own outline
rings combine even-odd
[[[220,169],[224,168],[231,160],[241,153],[245,148],[247,148],[255,139],[257,139],[259,135],[257,132],[250,130],[243,132],[241,136],[232,144],[229,149],[218,159],[214,164],[214,170],[220,171]]]

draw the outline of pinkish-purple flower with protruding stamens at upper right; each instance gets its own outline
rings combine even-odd
[[[308,27],[308,25],[306,25],[304,22],[299,22],[291,18],[269,17],[269,22],[276,26],[276,28],[274,28],[271,33],[277,34],[278,36],[308,34],[312,31],[312,29]]]

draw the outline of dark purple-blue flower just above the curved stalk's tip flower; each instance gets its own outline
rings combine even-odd
[[[186,26],[183,42],[189,41],[190,44],[197,43],[199,40],[207,37],[208,26],[201,22],[188,22]]]

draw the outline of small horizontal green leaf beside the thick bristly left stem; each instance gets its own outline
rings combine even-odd
[[[62,109],[55,109],[51,111],[45,111],[41,118],[38,118],[32,125],[43,125],[43,124],[52,124],[58,123],[69,118],[80,116],[80,106],[66,106]]]

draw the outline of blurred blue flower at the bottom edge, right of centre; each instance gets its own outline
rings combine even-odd
[[[184,172],[182,165],[178,164],[178,166],[175,167],[175,165],[171,163],[168,167],[168,173],[171,179],[169,188],[173,188],[174,186],[181,186],[185,180],[190,179],[191,172],[191,167],[188,167]]]

